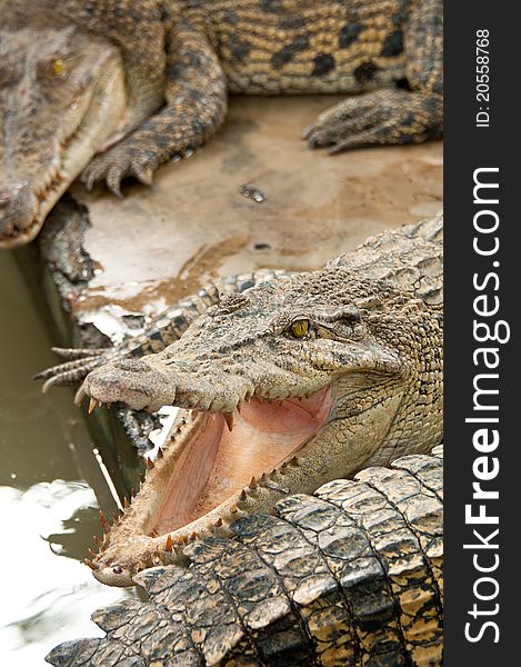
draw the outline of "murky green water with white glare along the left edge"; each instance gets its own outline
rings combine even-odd
[[[94,636],[90,614],[129,595],[80,563],[109,489],[72,394],[31,380],[54,362],[23,278],[0,253],[0,665],[38,667],[56,644]]]

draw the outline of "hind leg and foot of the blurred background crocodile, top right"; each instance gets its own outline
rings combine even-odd
[[[411,143],[442,136],[442,2],[414,2],[403,34],[397,31],[389,54],[404,48],[407,88],[390,88],[353,96],[327,109],[304,129],[311,148],[330,147],[335,153],[382,143]],[[360,66],[355,74],[370,84],[375,67]]]

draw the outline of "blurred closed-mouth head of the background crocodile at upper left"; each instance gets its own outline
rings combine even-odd
[[[0,247],[31,241],[113,142],[127,93],[119,51],[71,28],[0,31]]]

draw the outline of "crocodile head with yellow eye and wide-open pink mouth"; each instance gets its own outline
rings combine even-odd
[[[187,540],[231,535],[243,512],[428,450],[441,434],[439,338],[413,295],[330,269],[224,297],[162,352],[92,371],[94,400],[181,408],[89,561],[94,576],[128,586]]]

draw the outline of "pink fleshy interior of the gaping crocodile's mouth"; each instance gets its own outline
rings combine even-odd
[[[177,530],[244,486],[258,484],[317,435],[330,409],[331,392],[325,388],[301,400],[253,399],[232,414],[201,412],[193,435],[168,470],[148,535]],[[163,467],[167,471],[167,461]]]

